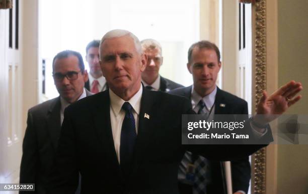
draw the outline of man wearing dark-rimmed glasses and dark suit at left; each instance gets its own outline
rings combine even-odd
[[[62,51],[52,62],[54,84],[59,97],[29,109],[20,169],[21,183],[35,183],[36,193],[46,193],[47,176],[52,168],[64,109],[91,93],[83,58],[75,51]]]

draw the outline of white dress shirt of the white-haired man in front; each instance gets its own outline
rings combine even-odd
[[[139,120],[139,112],[140,112],[140,103],[142,96],[142,86],[138,92],[127,102],[133,108],[133,116],[135,119],[136,133],[138,133],[138,120]],[[124,100],[117,96],[111,89],[109,89],[109,97],[110,97],[110,120],[111,120],[111,129],[114,147],[116,150],[117,158],[120,163],[120,142],[121,142],[121,129],[122,123],[125,117],[125,111],[122,110],[122,105],[124,104]]]

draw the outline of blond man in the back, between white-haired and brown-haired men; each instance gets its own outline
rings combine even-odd
[[[143,53],[147,56],[145,70],[141,73],[142,83],[145,88],[155,91],[168,92],[184,87],[159,74],[163,65],[162,46],[153,39],[145,39],[140,42]]]

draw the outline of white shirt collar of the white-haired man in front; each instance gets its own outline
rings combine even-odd
[[[141,96],[142,96],[142,85],[140,84],[138,92],[127,101],[138,115],[140,111]],[[119,115],[122,109],[122,105],[124,104],[125,101],[119,96],[117,96],[111,89],[109,89],[109,97],[110,97],[110,105],[112,111],[115,113],[115,115]]]

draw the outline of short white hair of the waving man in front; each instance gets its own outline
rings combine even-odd
[[[126,35],[128,35],[130,38],[133,39],[136,51],[141,55],[142,50],[141,50],[141,44],[140,44],[139,39],[134,34],[132,34],[131,32],[129,32],[127,30],[120,30],[120,29],[111,30],[103,36],[103,38],[101,40],[101,44],[100,44],[100,53],[101,53],[101,49],[102,49],[101,47],[102,47],[102,45],[103,45],[103,43],[106,39],[118,38],[118,37],[123,37],[123,36],[126,36]],[[101,58],[101,55],[100,55],[100,58]]]

